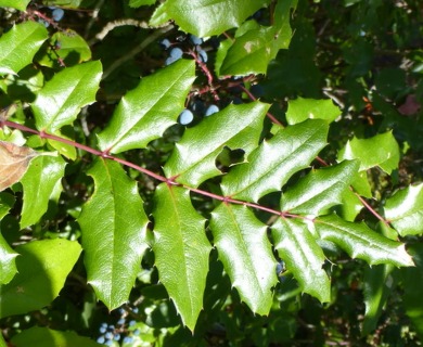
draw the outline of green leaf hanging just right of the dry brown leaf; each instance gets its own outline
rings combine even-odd
[[[66,163],[61,156],[39,155],[30,162],[21,179],[24,188],[24,205],[21,229],[36,223],[47,211],[54,188],[65,174]]]

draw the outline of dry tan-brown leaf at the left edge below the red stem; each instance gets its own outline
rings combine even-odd
[[[18,182],[36,156],[30,147],[0,141],[0,192]]]

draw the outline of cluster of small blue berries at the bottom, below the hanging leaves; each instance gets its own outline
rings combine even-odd
[[[99,327],[100,335],[97,338],[97,343],[105,346],[125,346],[133,342],[133,336],[140,334],[139,329],[133,329],[137,322],[130,319],[134,314],[138,314],[138,308],[132,309],[119,308],[118,320],[115,324],[106,322],[101,323]]]

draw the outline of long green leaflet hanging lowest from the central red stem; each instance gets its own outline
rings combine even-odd
[[[154,256],[161,282],[191,331],[194,330],[208,272],[208,242],[202,218],[191,205],[190,194],[162,183],[155,192]]]

